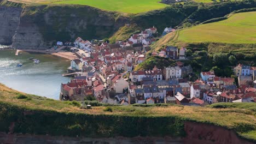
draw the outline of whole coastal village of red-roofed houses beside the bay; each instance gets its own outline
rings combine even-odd
[[[175,29],[165,28],[162,36],[173,31]],[[66,42],[64,45],[73,45],[70,50],[79,58],[71,61],[69,74],[65,75],[74,75],[74,79],[61,83],[60,100],[84,101],[94,97],[108,104],[191,106],[256,101],[256,67],[237,64],[233,68],[237,82],[234,77],[218,77],[214,71],[202,71],[197,80],[189,81],[194,72],[190,65],[181,62],[188,60],[185,47],[166,46],[151,53],[151,56],[173,59],[174,65],[134,70],[146,60],[156,33],[156,27],[148,28],[115,44],[101,40],[98,45],[80,37],[74,43]]]

